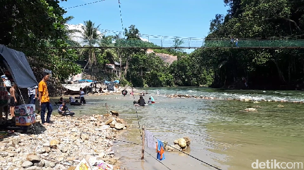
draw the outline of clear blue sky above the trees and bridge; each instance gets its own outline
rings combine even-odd
[[[98,0],[67,0],[60,2],[60,5],[69,8],[95,1]],[[123,27],[134,24],[141,34],[160,36],[141,36],[152,42],[161,40],[161,36],[204,38],[209,32],[210,20],[214,19],[216,14],[226,14],[228,10],[223,0],[120,0],[120,3]],[[65,16],[75,17],[69,24],[76,25],[91,20],[96,25],[100,24],[101,32],[123,31],[118,0],[104,0],[66,11],[68,12]],[[201,41],[196,43],[200,44]],[[169,39],[163,39],[163,43],[165,42],[169,42]],[[198,45],[194,41],[191,44]]]

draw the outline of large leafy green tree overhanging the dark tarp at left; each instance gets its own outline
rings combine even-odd
[[[43,68],[57,78],[77,74],[80,67],[75,49],[65,49],[68,36],[59,0],[0,0],[0,44],[25,53],[34,73]],[[54,46],[55,50],[45,47]],[[62,71],[64,70],[64,71]],[[37,78],[38,78],[37,77]],[[40,78],[39,78],[40,79]]]

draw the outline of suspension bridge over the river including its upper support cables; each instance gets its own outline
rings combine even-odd
[[[119,32],[121,34],[121,32]],[[303,39],[302,39],[303,38]],[[238,39],[236,43],[230,39],[220,38],[184,38],[169,36],[140,35],[140,40],[119,39],[92,39],[84,40],[81,37],[73,39],[68,48],[141,48],[141,49],[166,49],[166,48],[304,48],[304,36],[281,38],[252,38]],[[55,48],[55,47],[49,47]]]

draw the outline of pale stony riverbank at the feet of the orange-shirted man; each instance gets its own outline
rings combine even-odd
[[[97,162],[104,170],[123,170],[112,149],[119,131],[128,127],[123,119],[114,114],[52,115],[50,126],[41,125],[39,115],[36,120],[26,133],[14,132],[1,140],[0,170],[67,170],[85,157],[95,159],[90,163],[93,170]]]

